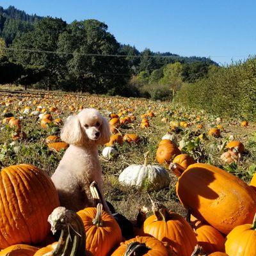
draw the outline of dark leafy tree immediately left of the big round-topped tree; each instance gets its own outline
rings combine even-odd
[[[54,54],[58,47],[58,38],[65,31],[67,23],[61,19],[51,17],[44,18],[35,24],[35,30],[29,31],[19,38],[15,38],[12,47],[12,59],[22,64],[25,68],[31,66],[44,70],[44,79],[47,90],[51,90],[52,84],[58,84],[62,75],[61,58]],[[31,49],[32,51],[23,51]],[[51,52],[48,52],[51,51]]]

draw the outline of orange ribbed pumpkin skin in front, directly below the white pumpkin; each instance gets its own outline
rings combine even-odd
[[[145,236],[167,242],[170,250],[177,255],[191,256],[197,243],[193,229],[179,214],[170,212],[170,216],[168,221],[159,221],[155,215],[149,216],[143,225]]]

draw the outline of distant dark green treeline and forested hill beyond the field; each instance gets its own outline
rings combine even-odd
[[[99,20],[67,24],[13,6],[0,6],[0,36],[0,83],[25,88],[166,99],[218,66],[209,58],[140,52],[118,43]]]

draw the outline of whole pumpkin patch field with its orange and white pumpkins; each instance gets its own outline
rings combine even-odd
[[[59,207],[50,179],[69,147],[61,127],[83,108],[108,118],[99,159],[117,215]],[[256,255],[250,120],[146,99],[1,92],[0,129],[0,256]]]

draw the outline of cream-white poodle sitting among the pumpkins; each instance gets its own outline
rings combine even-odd
[[[70,146],[51,178],[58,191],[61,206],[72,211],[96,206],[90,184],[95,180],[102,194],[98,145],[107,143],[109,135],[108,120],[96,109],[83,109],[79,114],[67,118],[61,130],[61,140]],[[102,203],[109,212],[104,198]]]

